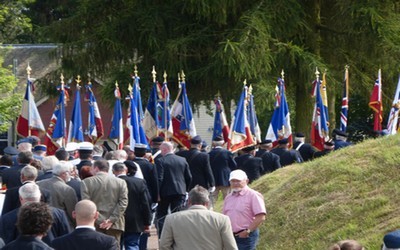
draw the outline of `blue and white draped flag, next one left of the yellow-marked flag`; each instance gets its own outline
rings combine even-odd
[[[265,139],[271,140],[273,145],[278,144],[278,140],[287,138],[292,145],[292,126],[290,125],[290,111],[286,102],[285,81],[278,79],[275,94],[275,110],[268,127]]]

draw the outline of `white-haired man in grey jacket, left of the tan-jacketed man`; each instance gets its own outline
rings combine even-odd
[[[39,181],[39,187],[50,191],[50,205],[67,213],[70,225],[74,226],[72,211],[78,202],[74,189],[67,185],[70,177],[71,163],[61,161],[53,168],[53,177]]]

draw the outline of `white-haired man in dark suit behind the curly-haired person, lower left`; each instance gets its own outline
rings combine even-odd
[[[39,186],[34,182],[26,183],[19,188],[19,201],[21,206],[27,203],[39,203],[40,197]],[[18,207],[0,217],[0,237],[6,244],[17,239],[19,235],[17,227],[15,226],[19,211],[20,208]],[[50,211],[53,217],[53,223],[42,239],[46,244],[50,244],[56,237],[71,232],[65,212],[55,207],[50,207]]]

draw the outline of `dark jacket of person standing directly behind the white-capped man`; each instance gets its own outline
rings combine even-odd
[[[215,186],[229,186],[229,174],[236,169],[236,162],[229,150],[221,147],[213,148],[210,156],[211,170],[214,175]]]

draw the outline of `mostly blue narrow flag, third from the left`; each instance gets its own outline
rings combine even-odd
[[[82,142],[83,126],[82,126],[82,109],[81,109],[81,87],[76,85],[74,107],[72,109],[71,121],[69,122],[68,140],[67,142]]]

